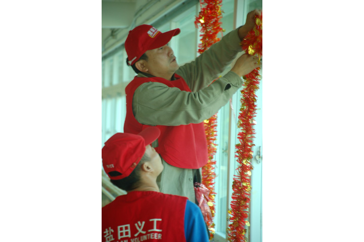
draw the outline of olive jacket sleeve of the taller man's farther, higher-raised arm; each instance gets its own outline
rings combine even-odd
[[[181,66],[176,74],[183,77],[191,91],[207,87],[213,80],[231,68],[237,54],[242,51],[238,29],[231,31],[199,55],[195,61]]]

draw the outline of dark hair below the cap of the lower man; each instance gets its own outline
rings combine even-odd
[[[122,190],[125,190],[126,192],[137,188],[140,183],[140,169],[141,169],[142,165],[146,161],[149,161],[149,160],[150,160],[150,157],[147,154],[144,154],[142,159],[139,161],[138,165],[136,165],[136,167],[130,173],[130,175],[126,176],[125,178],[119,179],[119,180],[110,179],[111,183],[114,186],[116,186]],[[117,176],[117,175],[121,175],[121,173],[118,171],[110,171],[109,175]]]

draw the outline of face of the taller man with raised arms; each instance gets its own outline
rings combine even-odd
[[[145,66],[148,69],[148,73],[155,77],[170,80],[179,68],[173,50],[168,44],[160,48],[147,50],[146,54],[148,61],[145,62]]]

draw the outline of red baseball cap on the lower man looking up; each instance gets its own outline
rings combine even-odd
[[[158,139],[160,130],[148,127],[138,135],[116,133],[105,142],[102,148],[102,162],[110,179],[118,180],[130,175],[142,159],[146,146]],[[110,176],[109,172],[118,171],[121,175]]]

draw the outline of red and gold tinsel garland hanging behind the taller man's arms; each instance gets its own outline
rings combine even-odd
[[[208,49],[212,44],[219,41],[217,37],[219,32],[222,32],[221,28],[221,3],[222,0],[204,0],[201,1],[201,11],[195,19],[195,26],[201,26],[201,43],[199,44],[198,52],[201,54]],[[213,157],[216,154],[216,118],[217,115],[213,115],[208,120],[205,120],[205,133],[207,139],[208,149],[208,162],[202,167],[202,184],[210,191],[207,198],[208,205],[210,206],[212,219],[205,218],[208,229],[210,230],[210,239],[213,238],[215,233],[215,224],[213,218],[215,216],[215,164],[216,161]]]

